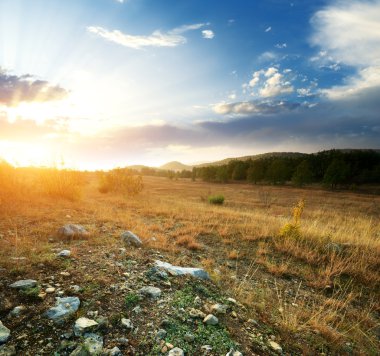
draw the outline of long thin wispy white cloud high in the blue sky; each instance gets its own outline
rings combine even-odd
[[[183,25],[169,32],[154,31],[150,35],[129,35],[119,30],[108,30],[100,26],[89,26],[87,30],[108,41],[115,42],[119,45],[142,49],[145,47],[176,47],[186,43],[186,38],[182,35],[187,31],[198,30],[207,24],[199,23],[193,25]]]

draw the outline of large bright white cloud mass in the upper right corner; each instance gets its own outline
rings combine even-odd
[[[380,1],[334,1],[312,18],[313,45],[322,51],[311,61],[330,57],[327,68],[339,70],[340,63],[353,66],[357,74],[346,83],[323,93],[331,99],[358,94],[380,86]]]

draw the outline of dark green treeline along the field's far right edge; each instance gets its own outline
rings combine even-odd
[[[330,188],[380,183],[380,153],[373,150],[330,150],[299,157],[232,160],[222,166],[194,168],[193,178],[207,182],[285,184],[320,183]]]

